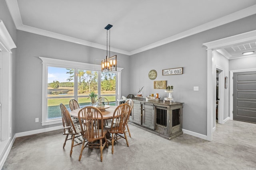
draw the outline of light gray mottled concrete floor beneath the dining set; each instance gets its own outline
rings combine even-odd
[[[3,170],[256,170],[256,124],[229,120],[218,124],[213,141],[187,134],[167,140],[133,125],[130,147],[120,139],[103,150],[81,145],[69,156],[70,141],[62,149],[62,130],[16,138]],[[128,133],[127,133],[128,135]]]

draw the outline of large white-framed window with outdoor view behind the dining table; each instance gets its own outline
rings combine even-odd
[[[88,94],[91,91],[96,92],[98,97],[108,98],[111,105],[116,105],[120,96],[120,72],[102,74],[94,64],[40,59],[43,61],[42,125],[62,123],[59,105],[62,103],[69,109],[72,98],[81,107],[90,106]]]

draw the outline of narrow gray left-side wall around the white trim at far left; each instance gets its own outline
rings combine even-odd
[[[4,25],[6,26],[6,29],[8,30],[8,32],[10,33],[12,40],[14,41],[14,43],[17,45],[17,41],[16,41],[16,27],[12,21],[10,12],[8,10],[8,7],[6,5],[5,0],[0,0],[0,20],[2,20],[4,22]],[[15,67],[14,67],[14,62],[16,59],[16,49],[12,49],[12,54],[11,54],[11,63],[10,63],[10,68],[11,68],[11,72],[12,72],[12,83],[15,84]],[[4,74],[4,72],[3,72]],[[4,90],[4,89],[3,89]],[[12,98],[15,98],[15,87],[12,86]],[[12,104],[10,104],[10,106],[12,106],[12,113],[10,115],[10,125],[12,127],[12,132],[10,134],[11,137],[14,136],[15,134],[15,123],[14,123],[14,112],[15,112],[15,103],[14,101],[12,101]]]

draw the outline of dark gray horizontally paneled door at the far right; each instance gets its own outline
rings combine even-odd
[[[256,71],[233,74],[233,119],[256,123]]]

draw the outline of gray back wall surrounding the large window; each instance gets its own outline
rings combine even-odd
[[[104,50],[87,47],[50,37],[36,35],[24,31],[17,31],[17,59],[16,59],[16,133],[53,127],[42,126],[42,61],[38,58],[48,57],[95,63],[95,59],[104,59]],[[122,61],[122,94],[128,93],[129,57],[117,54]],[[39,117],[39,122],[35,118]]]

